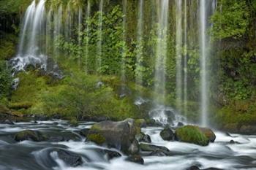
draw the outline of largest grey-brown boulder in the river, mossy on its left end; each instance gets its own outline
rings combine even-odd
[[[97,144],[107,144],[125,153],[134,142],[136,134],[135,120],[127,119],[120,122],[102,121],[94,124],[87,139]]]

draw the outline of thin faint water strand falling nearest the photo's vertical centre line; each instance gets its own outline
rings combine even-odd
[[[125,82],[125,59],[126,59],[126,48],[125,48],[125,43],[127,40],[127,0],[123,0],[123,13],[124,13],[124,18],[123,18],[123,23],[122,23],[122,28],[123,28],[123,42],[124,46],[122,49],[121,53],[121,81]]]

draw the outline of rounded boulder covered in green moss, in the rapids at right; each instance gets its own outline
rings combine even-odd
[[[177,128],[176,139],[180,142],[187,142],[192,144],[198,144],[201,146],[207,146],[209,144],[209,139],[200,128],[195,125],[185,125],[181,128]]]

